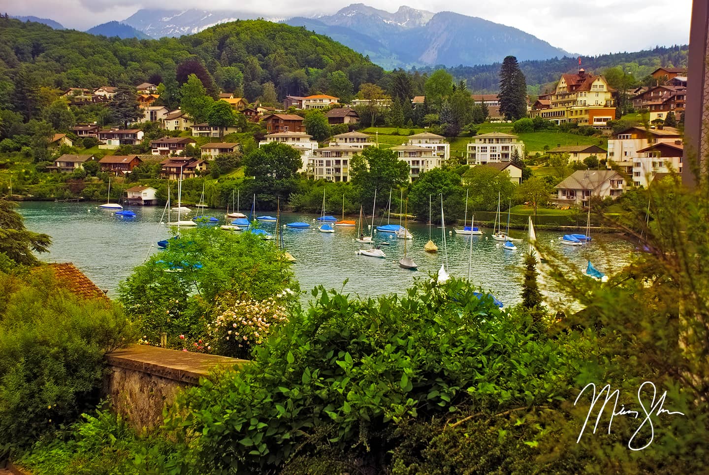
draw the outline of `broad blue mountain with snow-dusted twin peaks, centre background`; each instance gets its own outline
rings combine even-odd
[[[568,54],[517,28],[450,11],[431,13],[408,6],[389,13],[352,4],[334,15],[318,17],[317,22],[298,17],[286,23],[331,36],[384,67],[476,65],[499,62],[507,55],[518,60],[541,60]],[[369,44],[376,48],[362,49],[363,35],[372,38]]]

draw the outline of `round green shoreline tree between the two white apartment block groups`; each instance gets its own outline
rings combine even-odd
[[[359,189],[365,208],[374,201],[374,190],[379,193],[408,181],[408,164],[386,148],[369,147],[350,160],[350,182]]]

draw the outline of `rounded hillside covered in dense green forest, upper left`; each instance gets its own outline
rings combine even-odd
[[[168,99],[177,97],[191,72],[210,92],[242,89],[250,100],[269,82],[282,97],[327,89],[328,75],[339,70],[355,90],[383,75],[381,67],[330,38],[259,20],[225,23],[181,38],[121,40],[0,18],[0,36],[0,104],[17,110],[41,105],[26,104],[43,101],[33,97],[41,87],[50,94],[69,87],[162,82]]]

